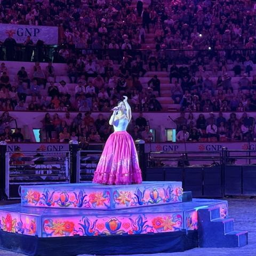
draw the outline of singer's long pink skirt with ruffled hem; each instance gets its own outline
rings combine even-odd
[[[108,185],[142,182],[137,151],[129,133],[114,132],[109,136],[92,182]]]

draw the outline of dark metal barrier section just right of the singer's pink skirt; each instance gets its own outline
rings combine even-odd
[[[196,197],[222,197],[222,156],[223,151],[150,152],[146,180],[182,181],[183,189]]]

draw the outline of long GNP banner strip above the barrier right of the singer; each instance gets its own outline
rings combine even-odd
[[[159,151],[221,151],[223,147],[231,150],[256,150],[256,141],[252,141],[250,143],[247,142],[187,142],[179,143],[179,142],[163,142],[163,143],[151,143],[151,151],[159,152]],[[148,153],[150,151],[150,144],[145,144],[145,152]]]

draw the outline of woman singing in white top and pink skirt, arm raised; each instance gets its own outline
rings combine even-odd
[[[114,126],[115,131],[105,144],[93,182],[108,185],[141,183],[137,151],[131,135],[126,132],[132,117],[127,97],[124,96],[124,101],[113,110],[109,124]]]

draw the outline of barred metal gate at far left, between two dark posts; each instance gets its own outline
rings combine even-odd
[[[70,182],[69,151],[17,151],[5,153],[5,193],[19,198],[20,185]]]

